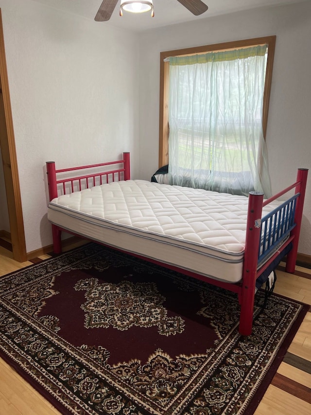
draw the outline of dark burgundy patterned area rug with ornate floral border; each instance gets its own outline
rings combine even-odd
[[[307,311],[94,243],[0,279],[1,357],[62,414],[253,414]]]

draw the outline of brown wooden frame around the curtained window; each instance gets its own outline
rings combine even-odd
[[[268,110],[272,82],[273,60],[276,46],[276,36],[255,37],[252,39],[236,40],[233,42],[217,43],[194,48],[178,49],[160,53],[160,117],[159,117],[159,167],[169,163],[169,71],[170,56],[185,56],[191,54],[206,54],[232,49],[248,48],[257,45],[268,45],[266,78],[263,92],[262,128],[266,138]]]

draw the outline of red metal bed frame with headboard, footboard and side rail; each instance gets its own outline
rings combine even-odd
[[[115,181],[116,178],[117,180],[130,179],[130,154],[128,152],[124,152],[123,158],[115,162],[105,162],[60,170],[55,169],[55,162],[47,162],[46,165],[50,201],[53,198],[57,198],[59,196],[59,191],[61,194],[67,194],[73,192],[75,187],[78,187],[78,189],[81,190],[83,185],[84,187],[88,188],[94,186],[96,182],[102,184],[103,182]],[[110,166],[113,165],[116,165],[117,167],[112,170],[107,170],[107,167],[110,168]],[[94,168],[103,168],[104,170],[88,175],[80,175],[71,178],[66,177],[60,180],[58,179],[59,174],[68,174],[68,172],[81,171],[86,169],[89,171],[90,169]],[[208,278],[195,272],[181,269],[177,266],[163,264],[151,258],[145,258],[133,253],[131,254],[171,270],[178,271],[185,275],[206,281],[209,284],[236,292],[238,294],[239,302],[241,305],[239,332],[244,336],[249,336],[252,332],[253,324],[256,279],[272,264],[276,257],[290,243],[292,243],[292,249],[287,254],[286,271],[293,273],[295,270],[307,176],[308,169],[298,169],[297,179],[294,184],[290,185],[286,189],[277,193],[272,198],[269,198],[265,201],[263,200],[262,193],[251,192],[249,194],[243,272],[242,281],[240,283],[226,283],[216,279]],[[280,198],[282,195],[286,194],[292,189],[295,189],[295,195],[292,198],[285,201],[282,204],[281,208],[276,209],[261,219],[263,206],[269,204],[277,198]],[[54,253],[62,252],[62,231],[62,228],[52,224]],[[64,230],[64,232],[68,233],[69,231]],[[70,233],[77,235],[74,233],[74,231]],[[264,234],[263,240],[261,237],[262,234]],[[276,246],[286,234],[289,234],[289,237],[271,256],[270,251],[273,250],[274,246]],[[264,262],[264,265],[258,269],[259,259],[264,258],[265,255],[270,257],[266,262]]]

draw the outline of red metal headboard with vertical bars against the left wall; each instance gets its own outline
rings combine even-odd
[[[113,165],[121,165],[122,167],[116,167],[110,170],[105,169],[107,166]],[[80,191],[82,189],[88,189],[95,185],[108,183],[108,181],[120,181],[130,179],[130,153],[128,152],[123,153],[122,160],[117,160],[115,162],[89,164],[86,166],[70,167],[67,169],[59,170],[55,169],[55,162],[46,162],[46,166],[50,201],[54,198],[57,198],[60,192],[62,192],[63,195],[66,195],[74,191]],[[99,171],[99,168],[104,168],[104,170]],[[96,172],[81,175],[81,171],[94,169],[96,169]],[[72,171],[77,171],[80,173],[80,175],[70,178],[59,178],[61,173],[65,174]]]

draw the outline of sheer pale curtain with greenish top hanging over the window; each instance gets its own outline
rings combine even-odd
[[[172,184],[271,196],[262,131],[266,50],[170,57]]]

